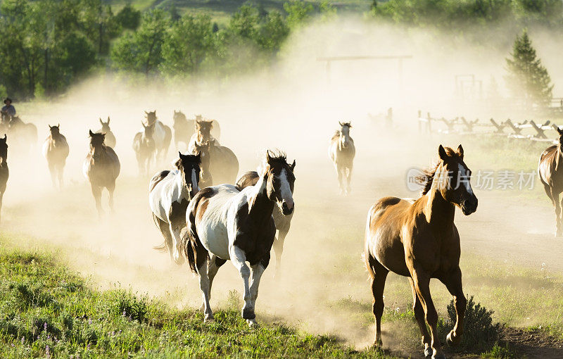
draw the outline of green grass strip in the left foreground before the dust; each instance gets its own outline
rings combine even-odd
[[[96,291],[53,256],[0,246],[2,358],[359,357],[331,336],[285,325],[246,325],[238,301],[203,323],[198,310],[178,310],[125,289]],[[238,294],[233,294],[238,298]]]

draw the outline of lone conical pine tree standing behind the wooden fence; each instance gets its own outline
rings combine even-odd
[[[526,30],[516,37],[506,62],[509,75],[505,80],[512,95],[523,99],[526,106],[548,106],[553,84],[548,70],[536,56]]]

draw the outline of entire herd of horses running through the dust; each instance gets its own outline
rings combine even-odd
[[[270,251],[276,256],[275,275],[279,275],[284,239],[291,227],[295,203],[293,188],[296,161],[285,153],[267,150],[255,171],[239,172],[234,152],[220,145],[220,127],[216,120],[201,116],[187,120],[174,112],[174,140],[178,152],[174,168],[160,170],[148,185],[148,204],[164,242],[155,247],[170,254],[172,263],[187,260],[198,275],[203,298],[204,320],[213,320],[210,292],[217,270],[230,260],[243,282],[242,317],[255,325],[255,301],[260,278],[270,263]],[[10,119],[2,128],[12,137],[32,138]],[[90,150],[83,163],[84,176],[91,184],[99,215],[101,191],[109,192],[113,209],[115,181],[120,160],[113,150],[115,135],[110,118],[101,120],[101,129],[89,131]],[[156,111],[146,112],[143,129],[134,136],[139,173],[147,175],[151,166],[167,157],[172,130],[160,122]],[[23,122],[21,122],[23,123]],[[339,180],[341,194],[350,194],[355,144],[350,137],[350,122],[339,122],[340,129],[330,139],[329,158]],[[31,128],[25,126],[25,128]],[[18,130],[16,130],[18,129]],[[23,135],[25,133],[25,136]],[[563,130],[559,145],[550,146],[540,156],[538,172],[557,214],[557,235],[562,234],[559,193],[563,191]],[[37,138],[37,131],[35,132]],[[0,208],[8,180],[8,136],[0,138]],[[53,187],[63,187],[63,170],[69,149],[60,125],[49,125],[43,154],[49,164]],[[409,279],[415,318],[422,334],[424,353],[445,358],[436,329],[438,315],[431,298],[429,282],[437,278],[453,296],[457,321],[447,336],[448,344],[459,344],[463,333],[467,300],[462,289],[460,235],[454,224],[455,208],[470,215],[478,200],[470,183],[471,170],[464,163],[464,150],[438,147],[436,165],[424,171],[418,199],[384,197],[367,213],[365,227],[365,265],[371,279],[373,315],[376,323],[374,345],[381,346],[381,316],[384,310],[384,286],[388,272]],[[276,236],[277,234],[277,236]],[[248,264],[247,264],[248,263]],[[430,332],[426,325],[428,325]]]

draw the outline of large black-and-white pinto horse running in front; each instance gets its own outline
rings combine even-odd
[[[209,306],[213,278],[219,267],[231,260],[244,285],[242,317],[255,325],[258,285],[270,263],[276,234],[272,212],[276,203],[284,215],[293,212],[294,167],[295,161],[289,165],[283,154],[270,156],[267,152],[255,186],[242,191],[232,184],[207,187],[189,203],[182,247],[191,270],[199,276],[205,321],[213,320]]]

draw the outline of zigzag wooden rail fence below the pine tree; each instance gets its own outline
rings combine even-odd
[[[446,118],[433,118],[430,113],[423,116],[422,111],[418,111],[418,130],[420,133],[488,134],[558,144],[559,134],[557,132],[556,134],[545,134],[546,131],[556,131],[557,127],[555,123],[551,123],[549,120],[543,124],[538,124],[533,120],[512,122],[510,118],[500,122],[493,118],[489,122],[481,122],[479,119],[467,120],[464,117],[448,120]],[[525,134],[525,132],[530,132],[524,131],[526,129],[533,129],[533,133]]]

